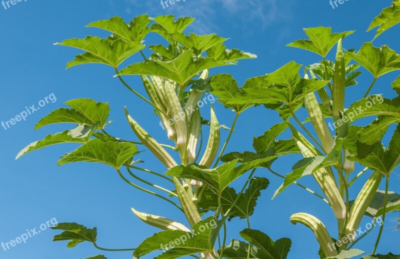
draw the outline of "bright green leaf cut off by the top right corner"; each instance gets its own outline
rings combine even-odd
[[[373,39],[375,39],[377,36],[382,34],[388,28],[396,25],[399,22],[400,22],[400,2],[397,0],[393,0],[391,6],[384,8],[380,12],[380,14],[372,20],[367,31],[378,27],[376,34],[373,37]]]

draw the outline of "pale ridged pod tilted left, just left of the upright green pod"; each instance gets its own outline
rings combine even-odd
[[[304,77],[308,79],[307,74]],[[329,128],[326,125],[325,118],[323,117],[315,94],[313,92],[308,93],[304,97],[304,101],[312,126],[314,127],[315,132],[322,143],[323,149],[325,149],[326,152],[329,152],[333,147],[334,141],[332,135],[330,134]]]

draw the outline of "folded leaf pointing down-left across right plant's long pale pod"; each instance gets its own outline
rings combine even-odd
[[[293,165],[293,171],[289,174],[286,174],[283,183],[279,186],[279,188],[276,189],[272,198],[275,198],[276,195],[282,192],[294,181],[305,175],[312,174],[314,172],[314,168],[316,168],[316,166],[318,166],[323,159],[323,156],[306,157],[295,163]]]

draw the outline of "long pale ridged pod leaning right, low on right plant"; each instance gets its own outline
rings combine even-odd
[[[365,214],[366,209],[379,187],[382,177],[383,174],[381,172],[374,171],[358,193],[357,198],[351,206],[350,214],[347,219],[346,234],[352,233],[358,227],[362,216]]]

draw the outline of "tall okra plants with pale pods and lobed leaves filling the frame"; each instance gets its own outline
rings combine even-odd
[[[399,22],[399,13],[400,1],[395,0],[372,21],[369,29],[379,27],[378,36]],[[55,43],[85,51],[67,63],[67,68],[87,63],[111,66],[122,85],[148,104],[148,114],[159,116],[170,143],[159,143],[152,137],[135,120],[135,111],[128,106],[124,109],[125,126],[127,130],[131,128],[134,138],[118,138],[106,131],[110,124],[108,103],[80,98],[65,102],[69,107],[54,110],[35,125],[37,129],[53,123],[72,123],[75,124],[72,129],[49,134],[29,144],[17,158],[49,145],[77,143],[79,147],[63,155],[58,165],[78,161],[110,165],[127,184],[155,195],[162,199],[160,202],[168,202],[171,209],[183,213],[187,222],[132,208],[138,219],[160,229],[135,248],[102,248],[96,242],[96,228],[77,223],[54,226],[62,232],[53,240],[68,240],[68,247],[88,241],[100,250],[132,250],[135,258],[156,251],[155,258],[188,255],[195,258],[286,258],[290,239],[283,237],[273,241],[250,227],[256,201],[269,184],[267,178],[254,176],[258,168],[265,176],[270,172],[283,179],[273,197],[295,184],[303,188],[305,194],[316,195],[331,208],[332,219],[337,221],[337,234],[328,231],[320,219],[306,212],[295,213],[289,219],[313,231],[320,245],[320,258],[351,258],[363,254],[353,248],[364,236],[357,237],[354,233],[363,217],[371,217],[374,223],[381,220],[376,243],[371,244],[371,255],[363,258],[400,258],[392,253],[375,255],[386,213],[400,210],[400,196],[388,190],[389,176],[400,163],[400,126],[388,132],[392,138],[387,147],[381,142],[386,131],[390,131],[390,125],[400,120],[400,97],[386,99],[379,94],[368,95],[381,75],[400,69],[400,55],[387,45],[376,47],[372,42],[364,43],[358,51],[346,50],[346,37],[353,31],[332,33],[330,27],[307,28],[304,32],[308,39],[296,40],[288,46],[312,51],[321,61],[304,67],[291,61],[276,71],[249,78],[239,87],[232,75],[212,74],[212,68],[256,56],[226,48],[226,38],[215,34],[184,34],[193,21],[190,17],[175,20],[173,15],[152,18],[143,14],[125,23],[120,17],[112,17],[87,25],[109,31],[111,34],[107,38],[87,36]],[[145,49],[143,42],[149,33],[159,34],[164,40],[162,44]],[[335,45],[335,60],[326,59]],[[151,54],[146,55],[147,52]],[[121,68],[134,54],[140,54],[143,61]],[[346,108],[346,89],[357,84],[355,79],[361,74],[357,70],[360,66],[372,74],[373,80],[369,88],[365,87],[362,98]],[[303,71],[301,75],[300,70]],[[147,96],[129,86],[125,81],[128,75],[140,76]],[[392,87],[400,94],[400,76]],[[212,105],[207,112],[205,108],[198,108],[198,103],[209,93],[234,112],[230,128],[220,124],[221,118]],[[239,115],[261,104],[277,111],[282,122],[254,137],[253,151],[225,153]],[[304,121],[296,115],[299,109],[307,112]],[[365,117],[374,120],[365,126],[354,123]],[[208,139],[202,139],[204,129],[209,131]],[[229,130],[222,141],[221,130]],[[280,139],[284,131],[291,133],[290,139]],[[145,168],[146,163],[140,160],[143,149],[151,151],[154,159],[165,166],[164,173]],[[274,169],[273,162],[288,154],[301,159],[293,165],[292,172],[282,175]],[[359,173],[354,173],[356,163],[365,167]],[[165,185],[149,182],[141,174],[139,176],[139,171],[156,175]],[[243,174],[246,179],[237,192],[230,185]],[[351,201],[349,188],[363,174],[370,176]],[[313,176],[320,186],[319,191],[298,182],[307,175]],[[382,179],[385,189],[379,190]],[[247,225],[239,233],[242,240],[229,242],[226,236],[229,220],[226,219],[234,217],[246,219]]]

